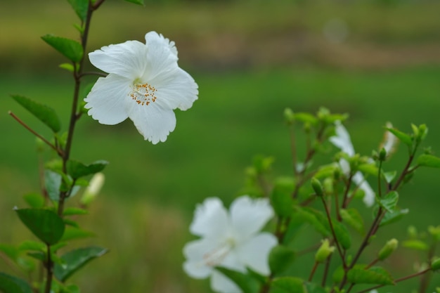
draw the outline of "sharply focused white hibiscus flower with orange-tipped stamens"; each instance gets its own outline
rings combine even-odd
[[[114,125],[130,118],[145,140],[166,141],[176,127],[173,110],[187,110],[198,98],[198,85],[177,64],[174,41],[148,32],[145,44],[126,41],[89,53],[90,62],[108,72],[84,99],[89,115]]]

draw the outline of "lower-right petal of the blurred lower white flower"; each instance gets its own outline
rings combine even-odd
[[[237,248],[242,263],[261,275],[269,275],[268,256],[278,240],[271,233],[259,233]]]

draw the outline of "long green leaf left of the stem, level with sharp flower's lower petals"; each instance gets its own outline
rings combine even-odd
[[[37,119],[46,124],[53,132],[58,132],[61,129],[60,119],[52,108],[37,103],[25,96],[11,95],[15,102],[22,105],[23,108],[32,113]]]

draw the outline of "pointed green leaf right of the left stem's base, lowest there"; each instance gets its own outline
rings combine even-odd
[[[67,278],[73,275],[76,271],[89,263],[92,259],[96,259],[108,252],[108,249],[103,247],[84,247],[72,250],[63,254],[61,259],[65,263],[64,266],[58,264],[53,268],[53,273],[58,280],[65,282]]]

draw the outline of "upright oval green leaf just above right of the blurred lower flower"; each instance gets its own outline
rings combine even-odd
[[[292,193],[295,182],[292,178],[279,178],[271,193],[271,204],[278,216],[290,216],[294,201]]]

